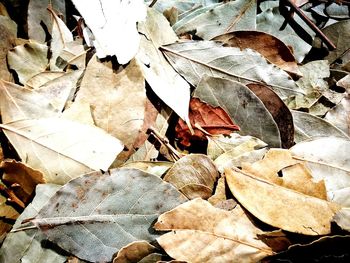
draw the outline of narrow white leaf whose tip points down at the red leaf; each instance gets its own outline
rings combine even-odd
[[[161,45],[174,43],[176,34],[166,18],[153,9],[148,9],[147,20],[139,24],[139,31],[144,36],[136,58],[145,79],[157,96],[188,122],[190,86],[158,50]]]

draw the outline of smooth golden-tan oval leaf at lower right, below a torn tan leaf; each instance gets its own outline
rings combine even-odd
[[[227,169],[225,176],[234,197],[261,221],[304,235],[331,232],[331,220],[340,209],[338,205],[270,183],[237,168]]]

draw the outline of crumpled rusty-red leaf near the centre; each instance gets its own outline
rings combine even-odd
[[[213,107],[198,98],[192,98],[190,101],[189,118],[194,134],[182,119],[175,127],[176,137],[186,147],[191,145],[192,140],[207,140],[206,135],[208,134],[230,135],[232,131],[239,130],[223,108]]]

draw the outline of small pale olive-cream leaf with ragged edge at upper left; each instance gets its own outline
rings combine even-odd
[[[9,67],[16,71],[19,81],[25,84],[48,66],[48,47],[34,41],[16,46],[7,54]]]

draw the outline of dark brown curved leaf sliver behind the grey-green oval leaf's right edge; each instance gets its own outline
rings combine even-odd
[[[293,116],[287,105],[270,88],[260,84],[247,84],[247,87],[264,103],[271,113],[280,131],[283,148],[290,148],[294,144]]]

